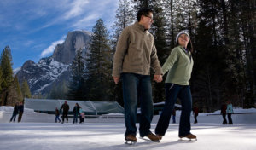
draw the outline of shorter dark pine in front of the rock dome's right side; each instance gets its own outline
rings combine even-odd
[[[67,98],[70,100],[84,100],[86,89],[84,82],[85,62],[83,50],[76,52],[75,58],[71,66],[71,79],[68,84]]]

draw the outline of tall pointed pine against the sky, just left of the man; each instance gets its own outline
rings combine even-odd
[[[109,46],[107,27],[103,20],[93,26],[88,53],[86,55],[86,86],[90,101],[109,101],[113,91],[111,77],[113,53]]]

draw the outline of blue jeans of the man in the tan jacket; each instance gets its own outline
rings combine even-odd
[[[153,118],[152,87],[149,75],[122,73],[123,97],[125,103],[125,136],[135,135],[137,132],[137,101],[140,101],[140,136],[148,136]]]

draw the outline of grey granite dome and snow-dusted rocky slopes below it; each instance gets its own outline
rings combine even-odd
[[[70,65],[78,49],[86,51],[90,33],[85,31],[68,32],[64,43],[55,47],[53,55],[42,58],[38,63],[26,61],[16,73],[20,84],[26,79],[32,95],[47,95],[53,84],[68,81]]]

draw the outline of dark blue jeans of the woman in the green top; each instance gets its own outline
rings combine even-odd
[[[189,85],[166,83],[165,87],[166,104],[156,125],[155,134],[165,136],[172,109],[174,108],[177,98],[179,98],[182,103],[182,113],[179,122],[178,136],[187,136],[190,134],[191,130],[190,114],[192,110],[192,96]]]

